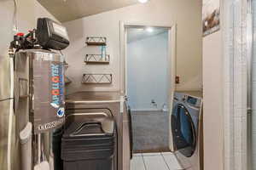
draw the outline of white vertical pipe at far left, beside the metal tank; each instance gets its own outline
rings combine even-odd
[[[10,69],[10,100],[9,100],[9,133],[8,133],[8,149],[7,149],[7,166],[11,170],[11,147],[12,147],[12,127],[14,115],[14,58],[9,58]]]

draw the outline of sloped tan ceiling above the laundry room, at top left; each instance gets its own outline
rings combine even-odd
[[[138,3],[137,0],[38,0],[38,2],[61,22]]]

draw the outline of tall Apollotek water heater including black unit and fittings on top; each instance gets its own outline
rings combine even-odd
[[[10,42],[9,77],[1,79],[0,87],[1,109],[9,117],[2,116],[9,124],[1,126],[0,136],[5,139],[0,150],[7,150],[0,151],[0,156],[7,158],[0,162],[7,162],[8,170],[63,169],[64,57],[53,50],[68,45],[66,28],[48,18],[39,18],[37,29],[26,35],[19,32]],[[4,90],[9,94],[3,95]]]

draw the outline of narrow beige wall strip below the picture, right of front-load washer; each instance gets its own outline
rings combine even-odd
[[[209,0],[203,1],[208,2]],[[220,23],[222,24],[221,21]],[[203,132],[206,170],[224,169],[222,46],[222,30],[203,37]]]

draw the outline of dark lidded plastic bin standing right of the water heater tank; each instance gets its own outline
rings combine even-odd
[[[61,139],[64,170],[113,170],[115,138],[111,119],[71,122]]]

